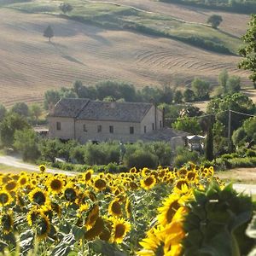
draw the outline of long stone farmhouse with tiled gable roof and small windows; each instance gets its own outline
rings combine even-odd
[[[90,99],[61,99],[48,119],[50,138],[75,139],[80,143],[108,140],[133,143],[162,131],[164,124],[163,111],[152,103]]]

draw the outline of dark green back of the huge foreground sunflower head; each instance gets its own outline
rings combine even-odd
[[[238,195],[231,185],[220,189],[212,183],[206,193],[195,191],[184,222],[188,236],[183,241],[184,255],[245,255],[253,239],[245,234],[253,217],[253,205],[247,195]]]

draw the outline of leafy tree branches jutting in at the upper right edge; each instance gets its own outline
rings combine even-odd
[[[238,64],[238,67],[252,71],[249,79],[253,81],[254,88],[256,89],[256,15],[251,16],[248,25],[249,28],[242,37],[245,46],[239,50],[239,54],[244,59]]]

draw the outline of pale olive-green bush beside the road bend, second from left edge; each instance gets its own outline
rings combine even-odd
[[[15,131],[14,147],[21,153],[23,160],[38,159],[37,135],[31,128]]]

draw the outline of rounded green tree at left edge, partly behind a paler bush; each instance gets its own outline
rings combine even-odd
[[[0,124],[1,143],[4,147],[12,147],[15,131],[28,128],[26,119],[18,113],[9,113]]]

